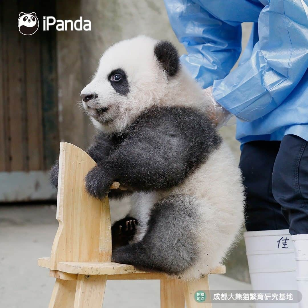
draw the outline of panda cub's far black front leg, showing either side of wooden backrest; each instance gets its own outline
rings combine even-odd
[[[94,136],[92,144],[87,148],[86,152],[93,158],[95,163],[99,163],[107,159],[113,144],[114,140],[112,138],[100,132]],[[58,187],[58,174],[59,160],[56,160],[49,173],[51,185],[55,188]]]

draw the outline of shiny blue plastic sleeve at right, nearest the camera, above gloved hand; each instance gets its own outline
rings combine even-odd
[[[214,82],[214,98],[238,118],[253,121],[275,109],[307,70],[305,1],[271,0],[260,13],[250,59]]]

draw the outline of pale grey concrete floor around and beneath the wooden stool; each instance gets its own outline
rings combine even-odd
[[[113,216],[117,210],[111,208]],[[0,307],[48,306],[54,278],[37,266],[50,255],[58,227],[54,205],[0,206]],[[211,290],[250,290],[249,284],[224,275],[210,277]],[[104,307],[159,307],[159,281],[108,281]],[[213,308],[226,307],[213,304]],[[228,308],[253,308],[229,304]]]

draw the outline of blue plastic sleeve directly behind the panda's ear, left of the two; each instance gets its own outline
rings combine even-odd
[[[181,62],[203,88],[229,74],[241,53],[241,24],[228,24],[192,0],[165,0],[171,26],[188,55]]]

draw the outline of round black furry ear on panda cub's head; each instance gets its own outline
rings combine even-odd
[[[168,76],[172,77],[177,73],[180,67],[179,53],[171,42],[158,42],[154,47],[154,55]]]

